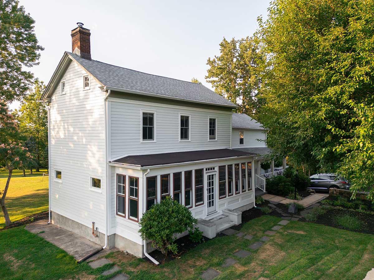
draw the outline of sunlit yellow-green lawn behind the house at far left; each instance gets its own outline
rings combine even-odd
[[[13,171],[5,199],[12,222],[48,210],[48,176],[43,178],[43,172],[46,170],[31,175],[29,170],[27,177],[22,177],[22,170]],[[5,187],[7,174],[7,171],[0,172],[1,190]],[[4,215],[0,211],[0,228],[4,226]]]

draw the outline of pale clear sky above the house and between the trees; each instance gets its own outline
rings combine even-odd
[[[206,83],[208,57],[223,37],[251,36],[269,1],[20,0],[45,48],[35,77],[49,82],[77,22],[91,29],[91,57],[150,74]],[[14,109],[18,104],[12,104]]]

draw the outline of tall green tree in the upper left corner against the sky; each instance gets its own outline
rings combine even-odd
[[[0,99],[20,100],[33,74],[22,66],[38,65],[43,47],[34,34],[35,21],[15,0],[0,0]]]

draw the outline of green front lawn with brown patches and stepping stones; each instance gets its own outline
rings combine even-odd
[[[200,279],[208,268],[221,272],[215,280],[356,280],[363,279],[374,267],[374,236],[332,228],[325,225],[291,221],[260,249],[249,245],[264,236],[281,219],[262,216],[243,225],[242,232],[253,236],[222,236],[198,245],[174,261],[155,266],[143,259],[111,252],[106,258],[122,268],[131,280]],[[107,280],[101,270],[87,264],[77,265],[71,256],[24,228],[0,232],[0,279],[89,279]],[[233,253],[243,249],[252,254],[237,258]],[[237,264],[221,265],[226,258]],[[111,264],[113,265],[113,264]]]

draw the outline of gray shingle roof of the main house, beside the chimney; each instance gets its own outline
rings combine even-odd
[[[106,87],[236,107],[229,100],[200,84],[147,74],[67,53]]]

